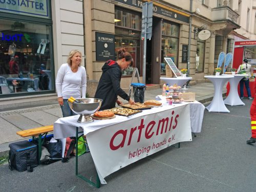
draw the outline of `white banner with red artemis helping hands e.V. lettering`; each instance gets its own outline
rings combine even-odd
[[[100,181],[178,142],[191,141],[189,105],[139,116],[87,134]]]

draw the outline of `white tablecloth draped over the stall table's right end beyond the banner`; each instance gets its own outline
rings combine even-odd
[[[156,100],[162,100],[164,105],[168,105],[166,102],[166,97],[162,95],[157,95]],[[200,133],[202,129],[203,117],[204,117],[204,105],[198,101],[194,102],[181,102],[188,103],[190,109],[190,123],[191,123],[191,132]],[[179,106],[181,103],[173,103],[175,106]]]

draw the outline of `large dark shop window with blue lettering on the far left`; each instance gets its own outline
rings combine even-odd
[[[0,19],[1,94],[53,90],[50,25]]]

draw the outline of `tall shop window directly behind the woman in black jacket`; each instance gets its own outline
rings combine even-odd
[[[123,76],[133,74],[133,68],[138,68],[140,73],[140,36],[141,16],[140,13],[131,10],[115,8],[115,54],[120,48],[131,53],[134,65],[122,71]]]

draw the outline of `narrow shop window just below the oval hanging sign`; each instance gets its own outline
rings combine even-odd
[[[197,40],[196,72],[204,71],[205,40]]]

